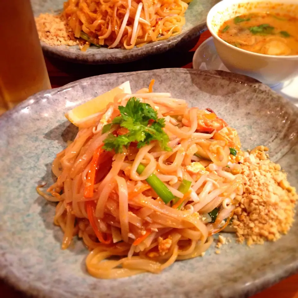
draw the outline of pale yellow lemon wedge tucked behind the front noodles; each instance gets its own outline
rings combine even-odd
[[[65,113],[65,117],[76,126],[81,123],[95,118],[99,113],[108,105],[108,103],[114,101],[114,97],[120,93],[131,94],[129,81],[124,82],[120,86],[103,93],[88,102],[75,107],[69,112]]]

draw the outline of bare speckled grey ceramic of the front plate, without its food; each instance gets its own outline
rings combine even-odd
[[[99,280],[85,269],[79,240],[62,251],[55,205],[35,192],[51,182],[55,154],[76,130],[64,113],[130,80],[132,90],[156,80],[192,105],[210,107],[237,128],[243,147],[264,144],[298,186],[298,109],[254,79],[224,71],[162,69],[83,79],[38,93],[0,118],[0,277],[38,297],[247,297],[298,270],[298,221],[275,243],[249,249],[235,243],[201,258],[175,262],[160,275]]]

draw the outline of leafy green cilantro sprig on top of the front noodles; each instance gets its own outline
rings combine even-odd
[[[128,130],[127,133],[115,136],[110,133],[103,141],[103,149],[123,152],[123,146],[129,147],[131,142],[137,142],[141,148],[151,141],[158,141],[163,150],[170,151],[169,136],[164,132],[165,119],[158,118],[157,112],[147,103],[142,103],[136,97],[131,97],[126,106],[119,106],[120,116],[115,117],[110,124],[106,124],[102,133],[108,132],[112,125],[119,125]]]

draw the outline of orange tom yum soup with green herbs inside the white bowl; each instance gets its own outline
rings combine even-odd
[[[271,13],[236,16],[218,36],[235,47],[265,55],[298,55],[298,18]]]

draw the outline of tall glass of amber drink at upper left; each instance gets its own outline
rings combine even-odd
[[[29,0],[0,1],[0,115],[51,84]]]

